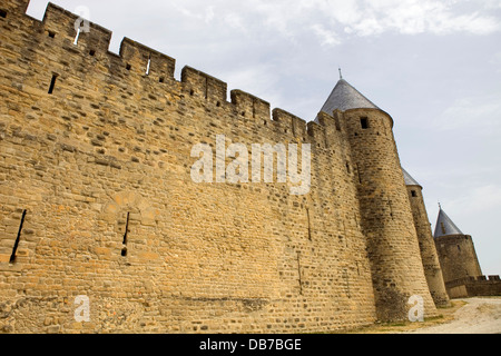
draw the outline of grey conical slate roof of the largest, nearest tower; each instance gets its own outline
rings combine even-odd
[[[353,88],[346,80],[340,79],[334,87],[322,111],[332,115],[334,110],[346,111],[350,109],[379,109],[371,100]]]

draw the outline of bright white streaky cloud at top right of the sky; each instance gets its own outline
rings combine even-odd
[[[499,17],[494,17],[493,3],[469,1],[475,11],[465,11],[464,1],[438,0],[250,0],[248,9],[263,19],[268,30],[289,40],[311,29],[323,46],[342,43],[334,36],[377,36],[384,32],[402,34],[449,34],[466,32],[490,34],[501,30]],[[252,16],[252,14],[250,14]]]

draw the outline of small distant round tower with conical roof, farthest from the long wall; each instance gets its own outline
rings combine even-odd
[[[456,279],[482,276],[473,239],[461,233],[442,207],[434,238],[445,285]]]

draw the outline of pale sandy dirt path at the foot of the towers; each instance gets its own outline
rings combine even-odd
[[[406,334],[501,334],[501,298],[478,297],[466,303],[445,324],[424,326]]]

